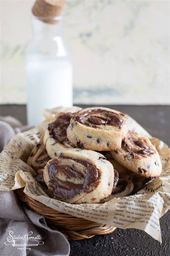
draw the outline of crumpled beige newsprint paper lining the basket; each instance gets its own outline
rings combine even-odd
[[[50,114],[49,114],[50,116]],[[36,172],[28,166],[30,151],[47,128],[50,117],[41,125],[15,135],[0,154],[0,191],[24,188],[24,193],[59,212],[82,217],[117,228],[144,230],[161,242],[159,219],[170,208],[170,149],[159,139],[152,138],[136,121],[128,117],[129,129],[150,138],[160,154],[161,177],[150,181],[133,196],[114,198],[104,204],[73,205],[49,198],[33,178]]]

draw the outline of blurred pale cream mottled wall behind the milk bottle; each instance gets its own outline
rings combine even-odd
[[[0,103],[26,103],[32,0],[1,0]],[[169,1],[68,0],[74,103],[169,104]]]

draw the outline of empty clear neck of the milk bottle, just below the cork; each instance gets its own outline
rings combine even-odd
[[[63,19],[62,16],[52,19],[52,23],[45,22],[46,18],[39,18],[32,15],[32,28],[35,37],[62,36],[63,33]]]

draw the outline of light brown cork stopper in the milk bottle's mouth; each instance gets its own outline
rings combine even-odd
[[[57,23],[57,17],[62,16],[66,0],[36,0],[32,13],[41,21]]]

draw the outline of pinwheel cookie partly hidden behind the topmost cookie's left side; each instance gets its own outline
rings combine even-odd
[[[66,136],[66,130],[72,116],[72,113],[59,113],[51,120],[51,123],[48,124],[43,142],[51,158],[54,158],[55,151],[75,147]]]

